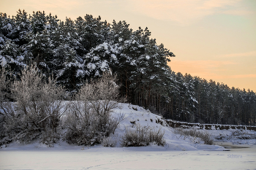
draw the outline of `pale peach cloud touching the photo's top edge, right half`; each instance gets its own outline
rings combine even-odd
[[[249,15],[239,6],[241,0],[130,0],[135,12],[158,20],[173,20],[189,24],[217,13]]]

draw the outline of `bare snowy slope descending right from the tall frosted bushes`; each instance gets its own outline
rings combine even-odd
[[[165,124],[161,116],[151,113],[149,110],[143,109],[132,104],[121,104],[122,109],[116,109],[114,114],[124,114],[124,120],[116,129],[115,135],[119,138],[124,135],[127,128],[132,128],[135,122],[143,126],[151,126],[152,128],[161,128],[165,132],[165,146],[159,147],[151,144],[145,147],[145,150],[225,150],[224,147],[207,144],[194,144],[189,139],[181,139],[173,133],[173,128]],[[120,145],[117,145],[120,147]],[[140,149],[141,150],[141,149]]]

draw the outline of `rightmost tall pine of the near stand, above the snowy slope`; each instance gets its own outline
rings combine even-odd
[[[144,48],[144,53],[140,53],[136,58],[136,74],[132,76],[133,84],[138,90],[140,104],[144,107],[153,106],[159,112],[160,100],[167,97],[169,84],[169,74],[167,61],[168,57],[173,57],[173,53],[165,49],[163,45],[157,45],[155,39],[150,39],[150,31],[139,28],[135,31],[139,47]],[[166,100],[165,100],[166,101]],[[162,101],[161,101],[162,103]]]

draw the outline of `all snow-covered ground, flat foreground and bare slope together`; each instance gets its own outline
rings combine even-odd
[[[113,116],[124,114],[124,120],[111,136],[111,140],[117,141],[116,147],[86,147],[61,141],[54,147],[37,142],[12,143],[0,149],[0,169],[256,169],[253,139],[242,145],[233,145],[233,141],[228,141],[231,138],[215,141],[218,145],[195,144],[174,134],[173,128],[165,123],[161,125],[162,117],[142,107],[121,105],[122,109],[113,113]],[[127,129],[135,128],[135,124],[162,128],[165,146],[121,147],[121,136]],[[208,132],[214,137],[232,134],[227,130]],[[230,151],[224,151],[225,147]]]

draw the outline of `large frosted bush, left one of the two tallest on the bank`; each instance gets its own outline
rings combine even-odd
[[[4,113],[4,128],[9,138],[27,143],[42,137],[42,142],[45,139],[47,143],[55,142],[59,138],[60,117],[64,112],[61,101],[64,88],[57,86],[53,77],[40,74],[34,64],[27,66],[20,80],[13,82],[11,93],[16,102],[7,102],[8,112]]]

